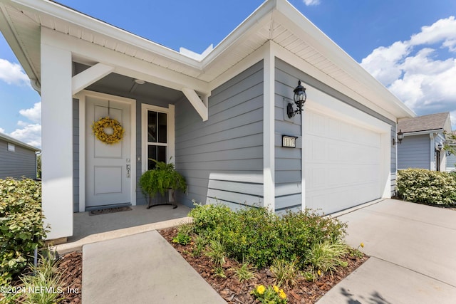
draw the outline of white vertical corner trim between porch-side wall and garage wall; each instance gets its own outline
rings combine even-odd
[[[263,75],[263,201],[264,206],[275,211],[276,183],[275,183],[275,116],[274,116],[274,85],[275,62],[271,46],[264,52]]]

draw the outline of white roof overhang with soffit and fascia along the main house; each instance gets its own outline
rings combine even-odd
[[[285,0],[265,1],[212,51],[205,52],[205,56],[174,51],[53,1],[0,0],[0,12],[4,17],[0,18],[1,31],[37,89],[41,71],[41,28],[98,50],[98,55],[92,58],[89,52],[74,52],[73,61],[106,64],[100,53],[117,54],[117,58],[141,63],[144,68],[138,73],[134,67],[115,66],[115,72],[130,73],[132,77],[187,90],[185,95],[193,99],[197,96],[195,93],[207,98],[211,90],[228,80],[224,79],[227,71],[236,68],[271,41],[287,56],[293,56],[303,66],[309,67],[306,73],[323,79],[326,84],[368,108],[387,112],[390,117],[415,116],[412,110]],[[152,70],[160,73],[149,75]],[[188,93],[189,90],[194,92]],[[197,103],[197,100],[194,102]]]

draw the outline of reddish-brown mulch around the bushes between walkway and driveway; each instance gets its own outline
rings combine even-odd
[[[234,275],[232,268],[238,267],[239,263],[227,258],[227,263],[224,264],[224,273],[227,278],[221,278],[214,275],[213,266],[207,256],[202,254],[198,258],[193,257],[190,252],[191,245],[182,246],[172,242],[172,238],[177,235],[177,228],[165,229],[159,231],[160,234],[181,254],[190,265],[195,268],[195,271],[199,273],[204,280],[206,280],[214,290],[217,291],[222,298],[230,304],[252,304],[255,299],[250,295],[250,291],[257,287],[259,284],[273,285],[274,277],[269,269],[262,269],[257,271],[256,276],[247,283],[239,283],[239,280]],[[334,285],[346,278],[350,273],[356,270],[361,264],[367,261],[368,256],[362,256],[361,258],[346,256],[345,261],[348,263],[347,267],[340,267],[332,276],[327,275],[318,278],[316,282],[308,282],[303,279],[299,279],[298,283],[294,288],[285,290],[288,296],[288,303],[291,304],[306,304],[316,303],[328,290]]]

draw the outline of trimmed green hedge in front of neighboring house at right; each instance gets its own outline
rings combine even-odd
[[[450,205],[456,203],[456,178],[447,172],[427,169],[398,171],[399,196],[422,204]]]

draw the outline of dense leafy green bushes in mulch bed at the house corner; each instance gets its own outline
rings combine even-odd
[[[257,268],[271,266],[275,258],[304,268],[312,244],[341,241],[346,227],[309,210],[277,216],[263,207],[235,212],[222,204],[196,204],[189,216],[196,234],[222,243],[227,256]]]

